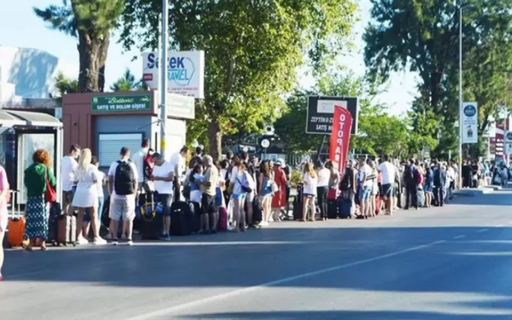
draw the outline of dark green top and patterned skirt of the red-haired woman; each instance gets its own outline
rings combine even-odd
[[[47,177],[50,184],[56,187],[53,172],[42,163],[33,164],[25,170],[24,183],[27,192],[25,237],[28,239],[47,239],[48,237],[49,205],[44,201]]]

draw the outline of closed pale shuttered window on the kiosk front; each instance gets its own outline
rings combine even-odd
[[[127,146],[131,154],[139,151],[142,133],[100,133],[99,134],[99,166],[110,167],[112,162],[119,160],[119,151]]]

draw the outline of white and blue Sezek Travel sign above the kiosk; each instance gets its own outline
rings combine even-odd
[[[158,52],[142,54],[142,78],[150,89],[158,89]],[[204,51],[167,53],[167,92],[204,99]]]

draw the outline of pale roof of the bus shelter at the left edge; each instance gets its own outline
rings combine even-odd
[[[61,128],[62,122],[56,117],[41,112],[0,110],[0,126],[43,126]]]

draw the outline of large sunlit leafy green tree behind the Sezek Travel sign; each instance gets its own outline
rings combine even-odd
[[[317,71],[324,70],[342,49],[355,9],[352,0],[172,3],[170,48],[206,52],[206,92],[199,112],[204,112],[201,125],[208,128],[214,158],[220,157],[226,133],[259,130],[279,115],[283,94],[295,87],[306,53]],[[135,41],[142,48],[156,47],[159,12],[161,1],[126,1],[121,35],[126,49]]]

